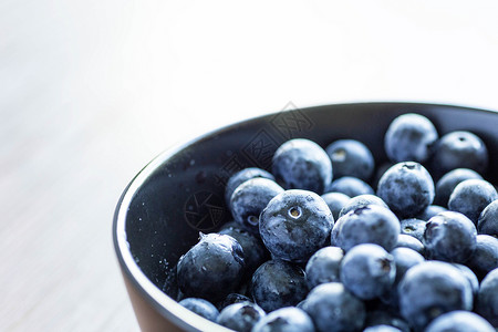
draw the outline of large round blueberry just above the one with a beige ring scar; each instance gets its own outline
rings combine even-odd
[[[332,180],[332,163],[317,143],[295,138],[274,153],[272,174],[284,189],[304,189],[323,194]]]

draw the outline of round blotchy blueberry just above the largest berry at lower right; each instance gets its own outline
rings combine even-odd
[[[465,262],[476,250],[477,230],[459,212],[446,211],[430,218],[424,232],[427,257],[449,262]]]

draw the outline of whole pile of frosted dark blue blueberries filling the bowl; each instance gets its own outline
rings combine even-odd
[[[498,328],[498,194],[475,134],[418,114],[384,137],[390,164],[295,138],[270,172],[231,176],[234,221],[177,264],[179,303],[235,331]]]

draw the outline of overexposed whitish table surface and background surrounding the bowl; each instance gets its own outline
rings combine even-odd
[[[137,331],[111,237],[129,179],[298,106],[498,108],[495,1],[0,0],[0,331]]]

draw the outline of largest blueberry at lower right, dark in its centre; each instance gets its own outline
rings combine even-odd
[[[406,271],[398,286],[402,317],[415,331],[454,310],[471,310],[468,280],[450,263],[425,261]]]

